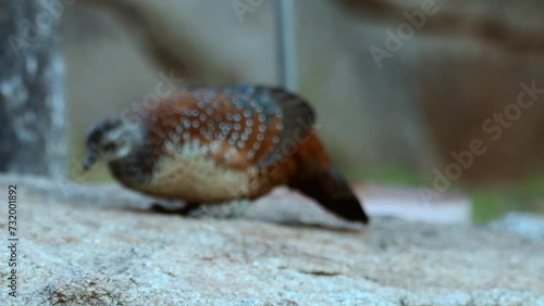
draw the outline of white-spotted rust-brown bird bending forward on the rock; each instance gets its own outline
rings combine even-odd
[[[104,161],[124,187],[184,201],[182,214],[286,186],[343,219],[368,224],[299,95],[254,85],[187,86],[147,106],[90,127],[85,171]]]

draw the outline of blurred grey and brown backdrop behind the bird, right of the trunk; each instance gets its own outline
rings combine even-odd
[[[285,2],[282,18],[273,0],[62,1],[71,160],[164,76],[277,86],[287,71],[354,182],[461,194],[475,222],[544,213],[542,1]]]

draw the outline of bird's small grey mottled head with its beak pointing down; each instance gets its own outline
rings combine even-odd
[[[87,156],[83,169],[100,160],[115,161],[128,155],[140,142],[137,126],[122,118],[108,118],[91,126],[87,133]]]

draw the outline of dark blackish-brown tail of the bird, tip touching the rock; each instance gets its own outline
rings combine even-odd
[[[289,187],[314,199],[324,208],[342,218],[369,222],[361,203],[334,166],[329,170],[320,168],[301,175]]]

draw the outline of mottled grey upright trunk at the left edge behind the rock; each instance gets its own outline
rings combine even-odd
[[[0,0],[0,171],[65,174],[63,5]]]

